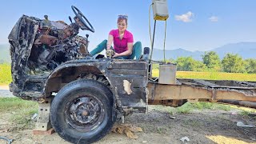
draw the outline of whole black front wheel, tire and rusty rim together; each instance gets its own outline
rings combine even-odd
[[[59,90],[50,108],[50,122],[60,137],[72,143],[92,143],[112,128],[113,96],[94,80],[70,82]]]

